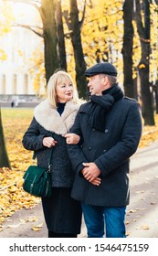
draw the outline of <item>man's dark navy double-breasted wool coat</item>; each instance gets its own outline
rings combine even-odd
[[[129,158],[139,144],[142,117],[139,104],[123,97],[106,115],[104,133],[90,127],[92,102],[83,104],[71,128],[83,144],[68,145],[68,154],[76,171],[72,197],[84,204],[122,207],[129,204]],[[94,162],[100,169],[100,186],[94,186],[80,173],[82,163]]]

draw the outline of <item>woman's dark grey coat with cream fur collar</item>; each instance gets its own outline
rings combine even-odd
[[[68,101],[64,112],[59,115],[48,101],[43,101],[35,109],[35,116],[23,137],[23,145],[27,150],[35,151],[37,165],[47,167],[50,148],[43,145],[43,138],[51,136],[58,142],[53,147],[51,159],[52,187],[72,187],[74,172],[68,158],[68,149],[64,135],[74,123],[79,105]]]

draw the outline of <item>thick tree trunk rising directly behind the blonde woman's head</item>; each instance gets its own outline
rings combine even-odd
[[[40,14],[43,22],[44,56],[47,81],[54,73],[54,71],[59,67],[57,52],[58,37],[55,20],[55,3],[55,0],[41,0],[40,7]]]

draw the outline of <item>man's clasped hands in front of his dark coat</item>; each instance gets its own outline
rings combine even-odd
[[[100,169],[94,163],[83,163],[82,175],[93,185],[100,185]]]

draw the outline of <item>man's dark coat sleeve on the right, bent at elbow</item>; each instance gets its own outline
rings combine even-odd
[[[140,107],[137,102],[132,102],[122,127],[121,140],[95,160],[102,176],[108,175],[136,152],[141,135],[142,116]]]

